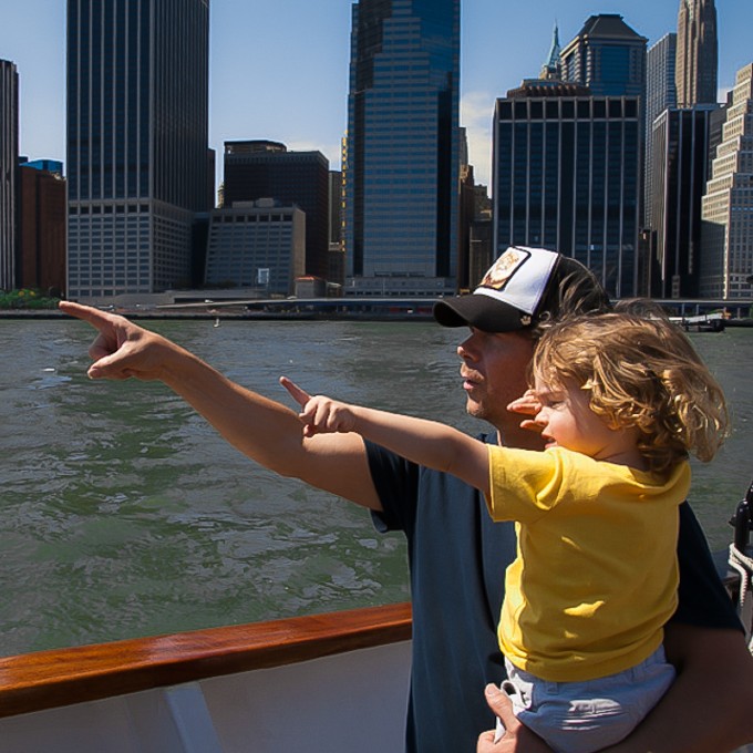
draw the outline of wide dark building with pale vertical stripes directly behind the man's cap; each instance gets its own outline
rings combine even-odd
[[[637,96],[524,82],[494,120],[494,248],[540,246],[589,267],[610,295],[637,288],[640,140]]]

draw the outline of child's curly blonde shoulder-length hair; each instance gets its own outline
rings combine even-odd
[[[638,450],[666,472],[691,453],[710,461],[724,437],[724,393],[666,317],[629,312],[567,318],[538,342],[532,374],[590,392],[590,408],[612,426],[637,426]]]

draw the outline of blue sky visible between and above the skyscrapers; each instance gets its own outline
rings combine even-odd
[[[334,169],[345,128],[350,0],[212,0],[209,144],[270,138],[320,149]],[[461,123],[488,182],[494,100],[538,75],[555,22],[566,44],[619,13],[649,45],[675,31],[679,0],[463,0]],[[719,84],[753,62],[753,0],[716,0]],[[21,153],[65,157],[65,0],[0,0],[0,58],[21,85]]]

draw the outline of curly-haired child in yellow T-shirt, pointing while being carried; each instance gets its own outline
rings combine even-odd
[[[498,626],[503,689],[549,746],[585,753],[625,737],[672,682],[662,639],[677,605],[677,507],[690,486],[688,454],[711,460],[726,408],[666,319],[553,324],[530,376],[523,402],[537,412],[523,425],[540,431],[544,452],[485,445],[281,382],[302,405],[306,436],[357,432],[458,476],[484,492],[495,520],[516,520]]]

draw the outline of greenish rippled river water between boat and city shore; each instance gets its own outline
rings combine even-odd
[[[412,412],[470,432],[455,345],[433,323],[149,321],[239,383]],[[0,654],[409,598],[400,536],[226,445],[161,384],[93,382],[93,330],[0,320]],[[712,548],[753,476],[753,330],[691,336],[734,432],[694,465]]]

